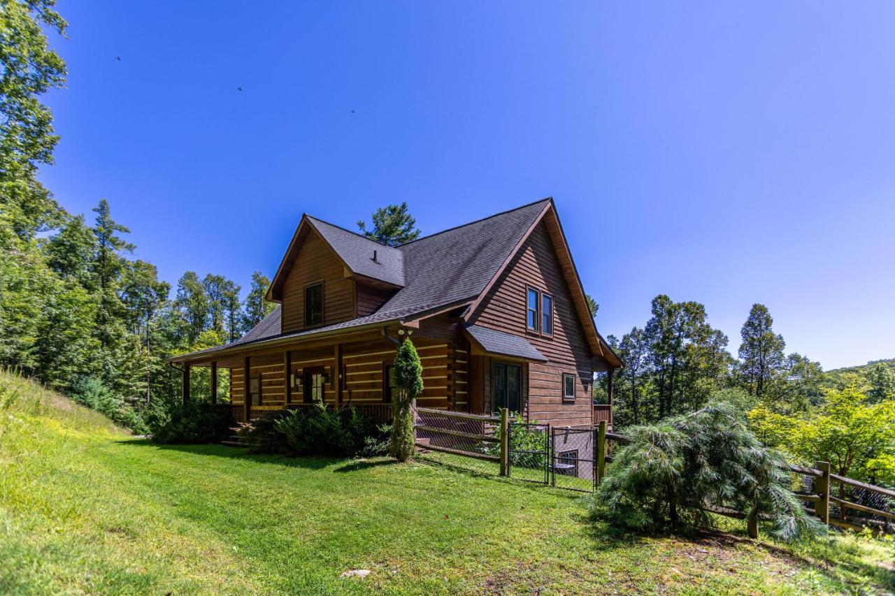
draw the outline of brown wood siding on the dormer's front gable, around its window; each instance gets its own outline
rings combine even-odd
[[[304,286],[323,280],[323,322],[354,319],[354,281],[336,253],[316,232],[308,233],[283,284],[282,330],[304,328]]]

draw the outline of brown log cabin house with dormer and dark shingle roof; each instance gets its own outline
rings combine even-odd
[[[552,199],[392,247],[303,215],[267,294],[277,308],[242,338],[169,362],[230,370],[234,420],[355,404],[390,412],[389,367],[411,336],[424,407],[553,426],[611,422],[618,356],[597,332]],[[592,404],[594,371],[609,404]],[[377,415],[379,413],[379,415]]]

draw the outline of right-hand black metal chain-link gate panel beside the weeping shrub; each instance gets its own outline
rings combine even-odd
[[[596,432],[592,428],[550,431],[550,485],[592,492],[597,487]]]

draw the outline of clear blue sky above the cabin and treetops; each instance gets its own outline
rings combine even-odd
[[[824,368],[895,357],[895,4],[248,5],[59,0],[43,179],[168,281],[272,275],[303,211],[553,196],[604,335],[665,293],[734,353],[763,302]]]

